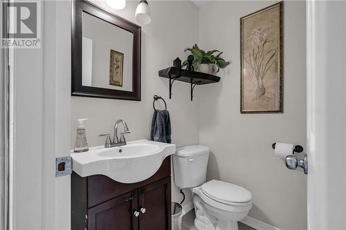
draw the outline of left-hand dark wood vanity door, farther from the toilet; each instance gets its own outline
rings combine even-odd
[[[89,230],[138,230],[138,192],[133,191],[88,209]]]

